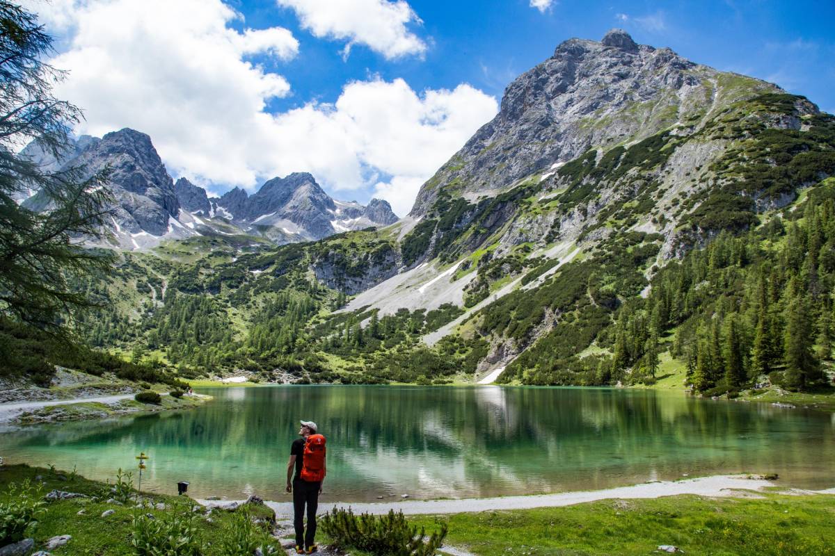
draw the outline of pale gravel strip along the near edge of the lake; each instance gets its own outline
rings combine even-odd
[[[492,510],[515,510],[534,508],[559,508],[579,503],[600,500],[664,498],[681,494],[693,494],[711,498],[739,496],[741,498],[758,497],[757,493],[783,492],[792,494],[835,494],[835,488],[824,490],[802,490],[784,488],[774,490],[775,485],[757,475],[711,475],[708,477],[686,478],[681,481],[659,481],[633,484],[625,487],[604,488],[601,490],[581,490],[564,493],[531,494],[527,496],[500,496],[492,498],[459,498],[435,500],[407,500],[392,503],[346,503],[327,502],[319,504],[319,513],[332,508],[350,507],[354,513],[384,514],[389,510],[402,511],[406,515],[439,515],[448,513],[473,513]],[[228,508],[240,505],[244,500],[207,500],[195,498],[195,502],[207,508]],[[265,500],[276,517],[288,518],[293,515],[291,502]]]

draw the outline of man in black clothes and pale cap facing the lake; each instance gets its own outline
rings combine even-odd
[[[307,439],[312,435],[321,438],[321,470],[317,470],[316,476],[319,480],[307,481],[302,478],[304,468],[305,447]],[[324,460],[324,437],[316,433],[316,423],[312,421],[301,421],[299,436],[290,448],[290,460],[287,462],[287,492],[293,493],[293,525],[296,528],[296,553],[314,553],[318,548],[313,538],[316,536],[316,508],[319,505],[319,494],[321,484],[325,477]],[[319,462],[317,462],[319,463]],[[293,470],[296,476],[293,477]],[[310,469],[306,470],[310,473]],[[308,474],[309,476],[309,474]],[[304,513],[307,506],[307,534],[305,534]]]

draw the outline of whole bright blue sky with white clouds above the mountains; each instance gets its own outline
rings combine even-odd
[[[57,38],[78,133],[149,133],[211,193],[310,171],[336,198],[410,208],[567,38],[625,28],[835,112],[835,3],[27,0]]]

